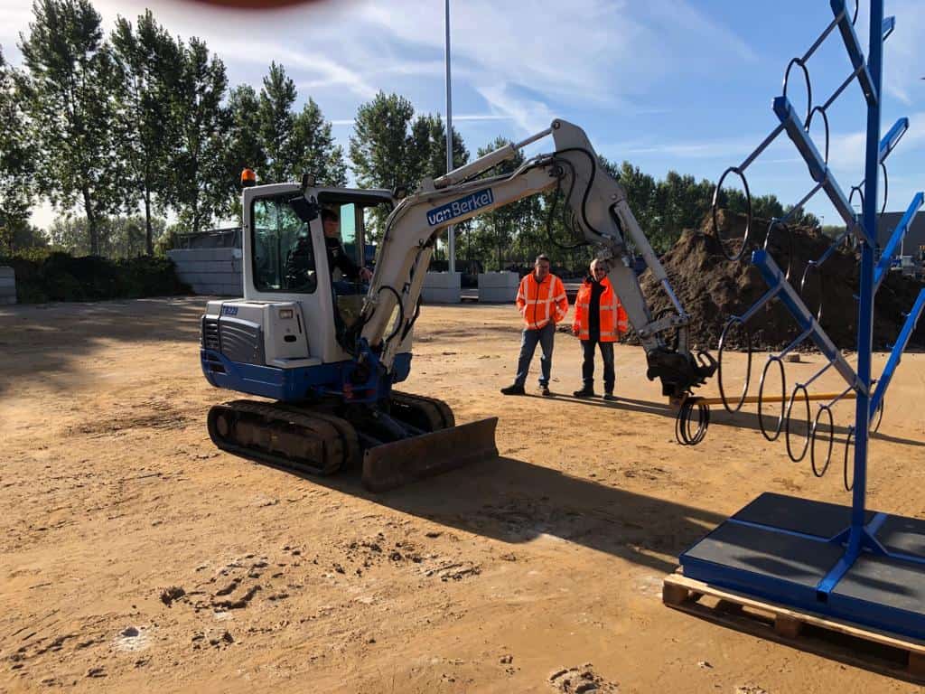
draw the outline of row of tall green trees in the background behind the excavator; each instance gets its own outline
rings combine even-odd
[[[239,215],[244,167],[261,183],[312,172],[332,186],[346,185],[350,168],[361,188],[413,186],[446,172],[439,115],[378,93],[357,109],[345,153],[311,96],[296,108],[299,94],[282,65],[270,64],[259,90],[230,86],[219,56],[196,37],[172,35],[151,10],[118,17],[106,35],[90,0],[35,0],[18,45],[20,68],[6,64],[0,47],[0,252],[54,242],[75,254],[153,254],[167,231],[196,233]],[[505,144],[498,138],[477,155]],[[454,129],[454,166],[469,157]],[[658,251],[709,210],[708,180],[674,171],[656,180],[628,162],[601,165],[626,187]],[[46,234],[28,222],[40,200],[61,214]],[[723,202],[746,205],[734,190]],[[757,216],[786,211],[773,195],[752,204]],[[546,252],[583,265],[587,250],[574,247],[572,225],[556,206],[547,194],[460,225],[458,257],[497,269]],[[176,219],[170,229],[166,217]]]

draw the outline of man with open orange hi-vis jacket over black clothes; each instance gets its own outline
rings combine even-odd
[[[583,361],[581,375],[584,385],[575,390],[576,398],[594,397],[594,348],[598,345],[604,360],[604,400],[613,396],[613,343],[629,328],[620,298],[607,279],[607,266],[595,260],[591,274],[582,282],[575,298],[575,318],[572,332],[581,340]]]

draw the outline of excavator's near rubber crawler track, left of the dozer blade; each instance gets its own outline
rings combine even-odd
[[[223,440],[213,424],[213,413],[221,409],[229,410],[239,415],[256,415],[264,419],[263,425],[270,428],[274,423],[283,424],[287,427],[296,425],[307,432],[306,438],[321,440],[321,450],[323,460],[321,465],[317,461],[308,461],[299,459],[298,455],[286,456],[275,451],[265,449],[255,449],[251,446],[236,443],[231,440]],[[252,457],[262,460],[271,465],[277,465],[285,469],[296,470],[298,472],[309,473],[312,475],[331,475],[339,470],[344,463],[350,462],[351,448],[355,459],[359,459],[359,444],[356,442],[356,433],[352,431],[349,424],[347,427],[352,434],[345,435],[344,429],[331,420],[338,417],[332,415],[320,415],[310,411],[297,410],[280,407],[275,404],[255,403],[248,400],[236,400],[230,403],[216,405],[209,412],[209,436],[215,442],[218,448],[239,453],[245,457]],[[343,420],[340,420],[341,422]],[[351,445],[351,442],[353,445]],[[355,448],[354,448],[355,446]]]

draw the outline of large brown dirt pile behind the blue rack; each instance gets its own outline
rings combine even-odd
[[[746,218],[722,215],[721,227],[731,236],[741,239]],[[750,247],[763,247],[769,222],[753,219]],[[715,350],[722,328],[730,316],[742,316],[769,290],[758,267],[750,263],[751,253],[742,260],[730,261],[722,253],[719,242],[709,233],[709,217],[700,230],[686,230],[671,251],[665,254],[665,267],[678,299],[691,316],[691,341],[701,349]],[[808,308],[816,312],[822,306],[821,324],[833,342],[843,350],[857,345],[857,299],[859,254],[842,247],[831,254],[817,269],[810,269],[805,283],[801,280],[808,261],[819,260],[832,244],[817,229],[776,227],[771,232],[768,251],[784,271],[789,268],[790,283]],[[803,284],[801,289],[801,284]],[[874,349],[887,349],[899,334],[922,285],[913,279],[891,272],[883,281],[876,298],[874,314]],[[647,271],[642,276],[642,288],[654,315],[670,306],[668,297]],[[777,299],[765,304],[747,322],[755,349],[780,349],[796,339],[799,329],[796,319]],[[741,336],[732,330],[731,336]],[[733,340],[734,347],[743,347]],[[925,346],[925,321],[913,333],[910,346]],[[801,348],[812,347],[807,340]]]

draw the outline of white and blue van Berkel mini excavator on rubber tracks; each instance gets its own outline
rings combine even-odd
[[[551,135],[555,151],[511,173],[491,169]],[[363,465],[369,490],[388,490],[497,455],[497,417],[456,426],[437,398],[394,390],[412,365],[414,322],[438,234],[450,224],[540,192],[557,191],[576,236],[611,267],[610,280],[646,351],[648,378],[679,399],[716,369],[691,353],[688,316],[636,223],[623,187],[599,163],[584,130],[555,120],[409,195],[302,184],[242,191],[242,299],[211,301],[202,317],[201,362],[213,386],[275,402],[235,400],[209,411],[209,435],[226,451],[312,475]],[[386,217],[368,287],[329,266],[322,217],[339,216],[342,247],[367,259],[365,228]],[[671,300],[652,316],[635,254]]]

